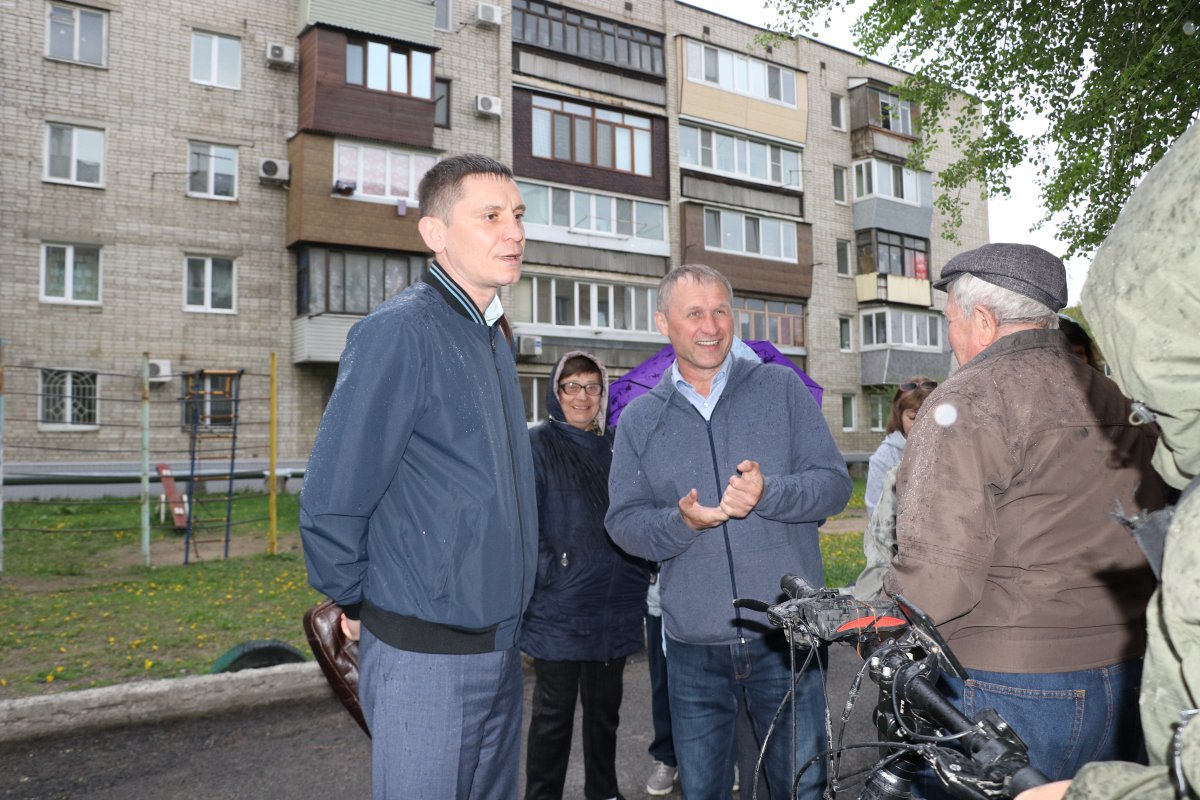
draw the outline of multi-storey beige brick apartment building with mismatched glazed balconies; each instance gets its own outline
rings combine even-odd
[[[132,459],[143,353],[152,451],[186,449],[179,398],[226,371],[262,426],[275,353],[281,456],[305,458],[347,331],[426,263],[421,175],[466,151],[510,163],[528,205],[502,300],[530,421],[562,353],[620,374],[665,345],[654,287],[701,261],[738,333],[870,452],[894,385],[949,369],[931,281],[988,240],[986,206],[940,237],[955,152],[908,167],[902,72],[761,32],[674,0],[20,4],[0,17],[7,459]],[[223,425],[228,401],[203,403]]]

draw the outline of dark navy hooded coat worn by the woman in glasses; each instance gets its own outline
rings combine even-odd
[[[612,433],[598,435],[563,421],[554,386],[571,355],[559,360],[548,381],[551,419],[529,431],[538,485],[538,582],[521,649],[547,661],[607,661],[642,648],[650,573],[646,561],[618,548],[605,531]],[[598,371],[605,374],[600,365]]]

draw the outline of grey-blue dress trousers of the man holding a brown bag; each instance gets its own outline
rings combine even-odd
[[[359,657],[374,800],[517,796],[524,687],[516,648],[409,652],[364,625]]]

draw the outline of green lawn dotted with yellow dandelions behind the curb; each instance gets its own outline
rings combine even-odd
[[[860,506],[862,481],[854,498]],[[298,499],[278,498],[276,555],[266,554],[265,517],[265,497],[239,495],[234,521],[246,524],[233,529],[232,558],[216,541],[223,528],[210,529],[187,566],[184,537],[155,517],[148,569],[127,500],[6,503],[0,699],[204,674],[253,639],[308,656],[300,619],[319,596],[299,549]],[[821,549],[829,585],[862,570],[862,534],[822,534]]]

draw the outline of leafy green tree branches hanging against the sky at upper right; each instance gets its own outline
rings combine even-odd
[[[776,30],[815,37],[828,12],[854,5],[768,0],[780,14]],[[982,184],[1006,196],[1006,173],[1030,162],[1040,176],[1043,222],[1063,215],[1064,255],[1090,253],[1200,108],[1195,0],[864,5],[858,46],[913,71],[900,94],[918,104],[926,133],[948,131],[962,151],[938,176],[937,207],[950,224],[964,192]],[[962,91],[978,104],[959,102]],[[1031,114],[1046,128],[1018,133]],[[929,146],[926,138],[914,148],[916,164]]]

